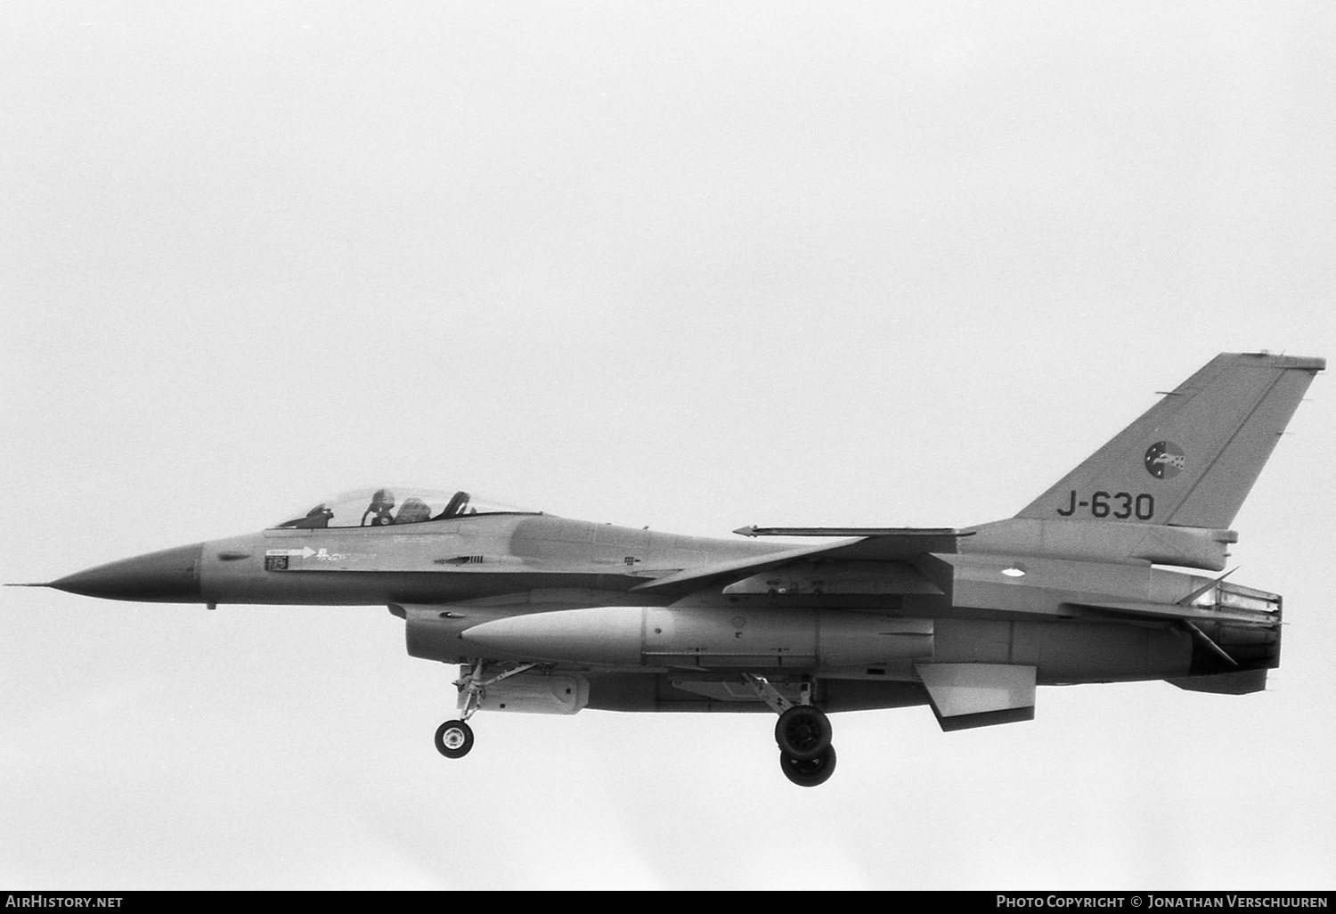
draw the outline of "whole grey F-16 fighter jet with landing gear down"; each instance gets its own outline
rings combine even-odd
[[[1037,686],[1263,690],[1281,597],[1225,580],[1230,524],[1324,367],[1218,355],[1018,514],[977,526],[721,540],[378,486],[36,587],[386,605],[409,655],[460,665],[436,732],[446,758],[473,747],[478,711],[760,711],[782,771],[810,787],[835,770],[839,711],[926,706],[955,731],[1033,719]]]

